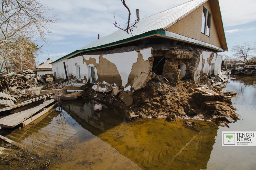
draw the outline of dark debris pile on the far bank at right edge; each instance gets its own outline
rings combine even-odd
[[[236,67],[232,69],[230,74],[256,76],[256,64],[247,64],[243,67]]]

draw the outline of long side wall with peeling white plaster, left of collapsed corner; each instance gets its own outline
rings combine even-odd
[[[69,79],[76,77],[86,82],[95,74],[97,82],[107,82],[119,86],[131,86],[140,89],[150,79],[152,69],[152,48],[137,51],[114,53],[106,55],[80,55],[66,61]],[[63,60],[53,64],[58,68],[58,74],[65,76]],[[91,68],[94,69],[92,74]]]

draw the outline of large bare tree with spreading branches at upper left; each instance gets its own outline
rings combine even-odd
[[[50,33],[47,25],[56,22],[56,16],[47,16],[49,10],[37,0],[2,0],[0,5],[2,61],[12,62],[12,59],[23,57],[28,52],[27,49],[35,44],[33,43],[35,37],[40,37],[46,42],[44,37]],[[28,47],[28,45],[32,46]]]

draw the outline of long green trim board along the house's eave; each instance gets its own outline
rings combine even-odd
[[[140,39],[140,38],[143,38],[143,37],[146,37],[146,36],[152,36],[152,35],[155,35],[155,34],[159,34],[159,35],[164,35],[165,36],[165,31],[164,30],[152,30],[152,31],[148,31],[148,32],[145,32],[143,34],[140,34],[140,35],[135,35],[135,36],[132,36],[130,38],[126,38],[124,40],[112,42],[112,43],[109,43],[109,44],[104,44],[104,45],[101,45],[101,46],[91,47],[91,48],[87,48],[87,49],[76,50],[76,51],[73,51],[72,53],[70,53],[70,54],[68,54],[66,56],[63,56],[63,57],[57,59],[54,62],[51,62],[51,64],[55,63],[55,62],[58,62],[58,61],[60,61],[62,59],[68,58],[69,56],[72,56],[72,55],[80,53],[80,52],[89,51],[89,50],[95,50],[95,49],[99,49],[99,48],[104,48],[104,47],[108,47],[108,46],[112,46],[112,45],[117,45],[117,44],[125,43],[125,42],[128,42],[128,41],[134,41],[136,39]]]

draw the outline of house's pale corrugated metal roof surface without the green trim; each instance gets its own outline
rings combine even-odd
[[[132,34],[127,34],[123,30],[118,30],[86,46],[83,46],[78,50],[98,47],[120,40],[125,40],[132,36],[140,35],[152,30],[165,29],[166,27],[169,27],[170,25],[176,23],[177,21],[188,15],[190,12],[192,12],[194,9],[204,4],[205,2],[207,2],[207,0],[189,1],[182,5],[159,12],[150,17],[143,18],[136,24],[137,28],[133,28]]]

